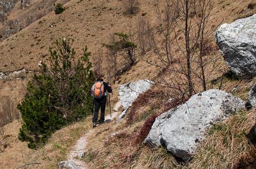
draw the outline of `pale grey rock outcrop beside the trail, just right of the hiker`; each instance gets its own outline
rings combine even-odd
[[[139,80],[137,82],[125,83],[119,86],[119,99],[124,107],[124,111],[122,111],[121,115],[119,116],[119,121],[125,117],[127,108],[131,106],[132,102],[134,102],[141,93],[149,90],[152,83],[153,82],[150,80]]]

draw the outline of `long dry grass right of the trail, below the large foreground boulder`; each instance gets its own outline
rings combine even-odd
[[[127,128],[122,124],[105,126],[109,129],[101,128],[88,146],[85,162],[90,168],[232,168],[254,150],[247,135],[255,118],[255,110],[243,111],[210,128],[194,159],[187,164],[177,162],[164,148],[137,144],[135,138],[143,122]]]

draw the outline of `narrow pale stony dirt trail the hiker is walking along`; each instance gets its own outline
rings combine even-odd
[[[112,121],[117,115],[120,114],[118,112],[118,108],[121,106],[121,102],[117,102],[114,107],[114,112],[112,113],[112,117],[110,115],[105,116],[105,121]],[[85,135],[83,135],[81,138],[79,138],[76,142],[76,145],[72,147],[69,155],[68,155],[68,161],[72,161],[76,164],[76,166],[79,169],[86,169],[86,164],[79,158],[83,156],[83,152],[86,151],[86,146],[88,144],[88,141],[92,137],[94,131],[93,129],[89,130]]]

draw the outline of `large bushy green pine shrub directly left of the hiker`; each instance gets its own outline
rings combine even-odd
[[[76,57],[72,42],[58,39],[50,48],[48,64],[42,63],[39,75],[27,84],[27,93],[18,110],[24,124],[19,138],[28,141],[29,148],[45,143],[51,133],[93,111],[88,91],[93,83],[87,47]]]

